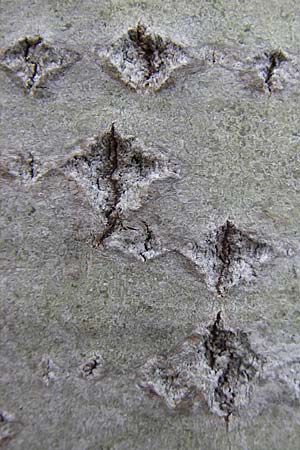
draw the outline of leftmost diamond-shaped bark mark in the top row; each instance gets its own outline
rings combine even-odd
[[[77,52],[50,45],[40,36],[24,37],[1,52],[0,67],[17,77],[27,93],[34,94],[46,78],[78,59]]]

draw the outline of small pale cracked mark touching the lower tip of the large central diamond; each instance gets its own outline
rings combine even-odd
[[[107,248],[120,251],[128,256],[145,262],[167,252],[163,247],[157,231],[145,221],[130,223],[123,221],[114,233],[104,239]]]

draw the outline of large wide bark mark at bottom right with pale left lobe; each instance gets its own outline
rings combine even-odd
[[[211,325],[196,330],[167,356],[150,359],[138,373],[138,385],[169,408],[208,407],[228,420],[248,405],[261,362],[248,335],[226,329],[218,313]]]

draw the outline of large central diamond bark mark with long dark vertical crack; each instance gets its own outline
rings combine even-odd
[[[111,236],[126,213],[142,206],[153,182],[178,176],[177,164],[166,155],[142,151],[114,125],[73,153],[62,170],[101,213],[106,227],[99,243]]]

